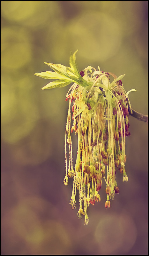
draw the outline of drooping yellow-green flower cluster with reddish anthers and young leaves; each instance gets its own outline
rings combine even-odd
[[[76,51],[77,52],[77,51]],[[89,66],[79,72],[76,52],[70,56],[70,67],[61,64],[46,63],[53,71],[35,74],[52,81],[42,89],[63,87],[71,82],[73,85],[66,95],[69,100],[65,132],[66,174],[73,178],[71,196],[72,209],[76,208],[76,192],[79,191],[78,218],[85,216],[88,224],[87,207],[101,201],[99,191],[102,182],[106,182],[107,201],[119,193],[116,172],[123,174],[123,181],[128,177],[125,170],[125,140],[130,136],[129,112],[131,112],[128,93],[125,92],[121,79],[113,73],[103,72]],[[110,83],[110,76],[114,80]],[[75,167],[72,161],[71,133],[78,135],[78,151]],[[69,148],[69,159],[67,159]]]

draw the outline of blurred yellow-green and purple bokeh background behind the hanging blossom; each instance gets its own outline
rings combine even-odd
[[[80,71],[126,74],[132,108],[147,115],[147,2],[1,1],[2,255],[147,255],[147,124],[130,116],[129,180],[117,173],[110,209],[103,185],[84,226],[72,180],[63,185],[69,86],[42,91],[34,76],[78,49]]]

